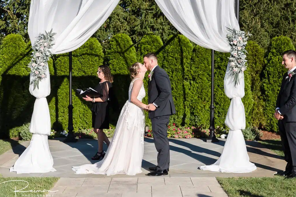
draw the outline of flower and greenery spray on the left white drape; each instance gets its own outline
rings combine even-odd
[[[31,69],[31,74],[34,76],[30,81],[30,85],[34,84],[33,90],[36,87],[39,89],[39,82],[47,77],[47,61],[50,56],[52,56],[49,49],[54,45],[54,35],[56,35],[56,33],[53,33],[52,30],[50,30],[50,32],[45,31],[45,34],[39,33],[36,37],[37,40],[32,47],[32,58],[28,67]]]

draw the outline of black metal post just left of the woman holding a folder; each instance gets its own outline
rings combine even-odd
[[[72,105],[72,51],[69,52],[69,115],[68,115],[68,136],[64,142],[77,142],[73,134],[73,105]]]

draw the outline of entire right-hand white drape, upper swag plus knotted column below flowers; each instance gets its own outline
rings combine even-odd
[[[234,12],[234,0],[155,1],[174,27],[197,45],[220,52],[231,51],[226,38],[229,31],[226,28],[239,30]],[[244,105],[241,100],[244,97],[244,79],[240,80],[239,86],[234,87],[232,83],[234,76],[228,76],[229,67],[224,79],[225,94],[231,98],[225,120],[230,128],[229,135],[218,161],[213,165],[201,166],[200,169],[217,172],[251,172],[256,167],[249,161],[240,130],[245,128]]]

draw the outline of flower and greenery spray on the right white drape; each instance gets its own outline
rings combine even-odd
[[[227,27],[226,27],[227,28]],[[239,74],[243,73],[247,69],[247,60],[246,55],[248,52],[246,51],[247,40],[250,34],[247,34],[244,31],[238,31],[236,29],[227,28],[231,34],[227,34],[226,37],[229,40],[229,44],[231,45],[231,55],[229,58],[229,70],[230,76],[234,75],[234,87],[239,84],[240,77]]]

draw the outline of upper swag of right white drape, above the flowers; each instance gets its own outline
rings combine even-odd
[[[234,0],[155,0],[165,17],[189,40],[205,48],[230,52],[226,27],[239,30]],[[226,65],[225,65],[226,66]]]

